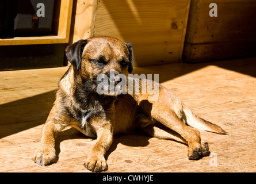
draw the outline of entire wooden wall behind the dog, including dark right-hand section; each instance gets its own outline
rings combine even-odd
[[[135,66],[256,56],[256,1],[216,0],[210,17],[212,2],[77,0],[69,44],[94,35],[129,41]]]

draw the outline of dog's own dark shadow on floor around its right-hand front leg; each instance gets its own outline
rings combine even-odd
[[[106,160],[108,160],[109,155],[116,150],[117,145],[120,143],[123,145],[127,145],[129,147],[146,147],[149,144],[148,140],[151,138],[152,138],[151,136],[148,136],[137,129],[130,131],[127,134],[116,135],[114,136],[113,143],[110,146],[108,152],[106,153],[105,158]],[[71,140],[71,139],[78,139],[78,140],[87,139],[88,141],[90,140],[93,141],[96,138],[87,137],[75,128],[70,128],[70,129],[67,129],[66,131],[60,132],[55,140],[56,159],[51,164],[56,163],[59,160],[59,154],[61,152],[60,143],[62,143],[62,141],[64,140]],[[90,151],[91,147],[88,147],[88,149]],[[85,155],[85,159],[86,159],[86,155]]]

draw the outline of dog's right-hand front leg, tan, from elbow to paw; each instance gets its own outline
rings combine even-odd
[[[101,172],[108,169],[106,164],[106,151],[108,151],[113,141],[113,127],[110,122],[97,130],[97,142],[87,157],[84,166],[93,172]]]

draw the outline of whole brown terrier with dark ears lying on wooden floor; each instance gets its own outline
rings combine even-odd
[[[60,79],[56,101],[43,127],[40,147],[33,156],[34,162],[41,166],[56,159],[55,137],[66,127],[75,127],[86,136],[97,137],[84,164],[90,171],[105,171],[108,165],[104,156],[113,135],[135,127],[154,137],[188,144],[188,157],[192,160],[210,153],[208,144],[201,141],[200,133],[192,127],[226,133],[219,126],[195,116],[177,95],[154,81],[157,99],[150,99],[152,94],[142,93],[147,87],[143,80],[139,80],[139,94],[130,93],[128,87],[129,94],[97,93],[102,82],[98,81],[99,75],[106,75],[117,85],[116,76],[132,72],[130,43],[112,37],[91,37],[67,47],[66,56],[72,65]],[[114,76],[110,76],[111,71]],[[133,85],[129,79],[125,81],[127,86]]]

